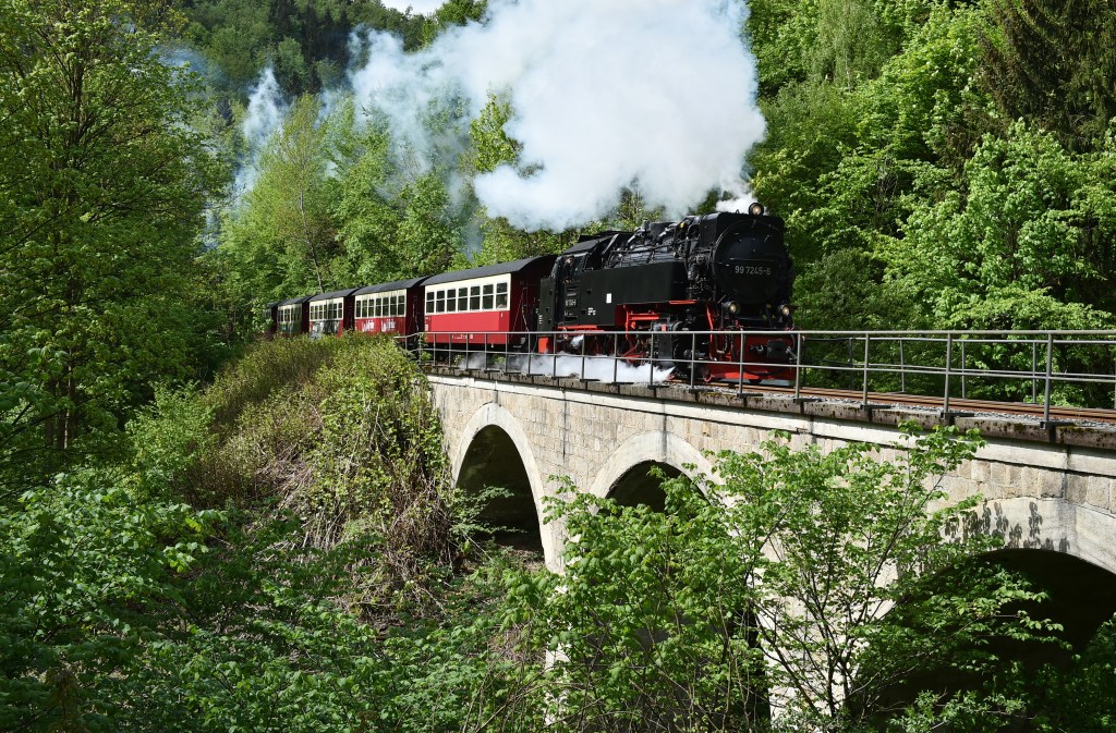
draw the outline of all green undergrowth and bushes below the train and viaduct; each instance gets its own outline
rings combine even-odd
[[[722,455],[723,485],[666,482],[665,513],[569,493],[549,508],[578,538],[558,576],[488,543],[393,343],[260,344],[205,389],[160,392],[125,459],[4,508],[0,725],[1108,730],[1109,629],[1070,672],[984,650],[1057,628],[1020,610],[1041,589],[980,559],[994,542],[942,539],[977,500],[931,512],[926,480],[975,445],[943,432],[888,464],[777,438]],[[910,572],[883,586],[891,567]],[[924,674],[945,682],[893,707]]]

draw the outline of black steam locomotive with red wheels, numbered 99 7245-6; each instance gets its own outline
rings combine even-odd
[[[676,374],[788,378],[790,257],[783,221],[748,213],[645,222],[584,237],[539,287],[539,350],[653,359]]]

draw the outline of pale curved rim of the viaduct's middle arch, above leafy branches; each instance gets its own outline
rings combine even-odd
[[[642,481],[646,469],[656,464],[691,478],[708,475],[712,469],[701,451],[677,435],[660,431],[641,433],[620,443],[604,460],[589,492],[594,496],[608,496],[617,486],[623,488],[625,481]]]

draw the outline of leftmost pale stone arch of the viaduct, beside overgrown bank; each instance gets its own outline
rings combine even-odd
[[[511,461],[512,457],[518,459],[518,464]],[[538,529],[543,558],[548,567],[554,567],[558,548],[555,532],[542,521],[542,498],[546,494],[539,467],[527,433],[510,412],[490,402],[473,413],[460,433],[460,442],[452,456],[451,466],[454,483],[459,485],[462,482],[466,486],[475,485],[487,471],[497,470],[500,474],[498,479],[512,481],[513,485],[508,488],[513,493],[518,489],[522,495],[529,494],[533,509],[533,522],[530,522],[529,527]],[[521,469],[521,472],[518,469]],[[514,513],[511,507],[498,511]],[[514,521],[512,523],[527,524]],[[517,527],[517,529],[528,529],[528,527]]]

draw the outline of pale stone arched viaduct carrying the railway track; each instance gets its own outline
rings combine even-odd
[[[1091,637],[1116,611],[1116,430],[1043,425],[1033,419],[964,415],[836,401],[667,385],[618,385],[433,368],[429,376],[454,479],[466,490],[501,485],[502,524],[538,538],[557,568],[562,537],[542,521],[543,499],[568,476],[581,491],[622,502],[662,501],[647,470],[705,472],[709,453],[756,450],[772,431],[822,449],[859,441],[892,450],[897,424],[953,423],[988,441],[944,479],[952,499],[983,496],[985,531],[1004,557],[1060,596],[1067,629]],[[692,466],[692,467],[691,467]],[[658,498],[656,499],[656,492]]]

